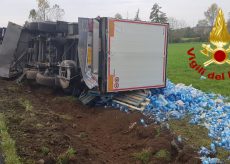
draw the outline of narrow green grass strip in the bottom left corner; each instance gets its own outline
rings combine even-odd
[[[20,158],[17,156],[15,141],[10,137],[5,122],[5,117],[0,114],[0,139],[1,151],[6,164],[21,164]]]

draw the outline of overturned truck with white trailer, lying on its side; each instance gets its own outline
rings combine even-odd
[[[115,96],[116,103],[138,107],[142,90],[166,85],[167,32],[168,24],[99,17],[23,27],[10,22],[0,45],[0,77],[21,74],[20,80],[61,87],[85,104]]]

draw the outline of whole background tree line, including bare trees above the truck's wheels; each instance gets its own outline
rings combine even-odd
[[[50,5],[49,0],[36,1],[37,9],[30,10],[30,21],[57,21],[63,19],[65,11],[59,5]],[[149,20],[156,23],[169,23],[169,42],[205,42],[208,41],[209,33],[218,14],[218,9],[219,7],[216,3],[212,4],[204,12],[204,19],[199,20],[195,27],[189,27],[184,20],[167,17],[166,13],[162,11],[162,7],[154,3],[150,11]],[[140,9],[137,10],[133,20],[140,21],[141,18],[139,15]],[[122,15],[117,13],[114,18],[122,19]],[[227,22],[230,28],[230,13]]]

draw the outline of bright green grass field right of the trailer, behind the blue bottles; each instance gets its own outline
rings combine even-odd
[[[167,77],[174,83],[192,84],[193,87],[205,92],[214,92],[230,96],[230,78],[228,77],[230,65],[211,64],[205,68],[207,71],[204,76],[207,76],[207,74],[211,72],[215,72],[216,74],[225,73],[225,80],[220,81],[208,78],[206,80],[201,80],[201,75],[189,67],[190,56],[187,55],[187,51],[191,48],[195,48],[194,53],[199,65],[203,66],[203,63],[210,59],[200,53],[202,49],[201,45],[202,43],[169,44]]]

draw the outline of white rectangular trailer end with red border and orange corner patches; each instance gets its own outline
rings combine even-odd
[[[107,92],[166,83],[168,24],[108,20]]]

